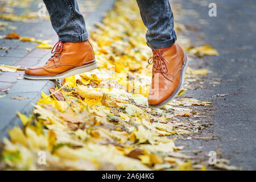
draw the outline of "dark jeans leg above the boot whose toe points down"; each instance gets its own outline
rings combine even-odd
[[[174,44],[174,16],[168,0],[137,0],[141,18],[147,27],[147,44],[151,49]]]

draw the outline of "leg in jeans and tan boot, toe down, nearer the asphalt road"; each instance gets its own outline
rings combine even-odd
[[[168,104],[182,88],[187,56],[175,42],[174,16],[168,0],[137,0],[147,44],[152,49],[152,83],[148,94],[151,107]]]

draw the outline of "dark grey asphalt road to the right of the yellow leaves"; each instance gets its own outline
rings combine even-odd
[[[233,1],[174,1],[183,9],[195,10],[199,14],[185,15],[184,24],[196,27],[189,35],[192,40],[217,49],[219,56],[204,57],[203,67],[209,68],[221,78],[216,87],[193,92],[201,100],[211,100],[216,110],[213,126],[204,134],[214,132],[217,139],[191,140],[190,147],[205,151],[222,151],[221,156],[245,170],[256,169],[256,2],[254,0]],[[208,15],[209,3],[217,5],[217,16]],[[190,11],[191,12],[191,11]],[[228,94],[225,97],[212,97]]]

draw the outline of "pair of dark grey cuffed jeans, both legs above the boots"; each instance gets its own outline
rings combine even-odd
[[[43,0],[48,10],[52,27],[64,42],[88,40],[85,20],[76,0]],[[168,0],[137,0],[141,18],[147,27],[147,45],[152,49],[174,44],[174,16]]]

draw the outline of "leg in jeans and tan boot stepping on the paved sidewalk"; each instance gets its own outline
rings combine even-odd
[[[88,42],[85,21],[76,0],[44,0],[59,42],[43,67],[27,68],[24,77],[51,80],[77,75],[97,68],[93,48]]]

